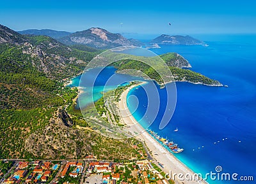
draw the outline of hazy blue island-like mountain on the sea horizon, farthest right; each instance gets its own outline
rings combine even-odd
[[[166,34],[162,34],[157,38],[150,41],[150,43],[157,44],[166,44],[166,45],[205,45],[203,41],[195,39],[191,36],[169,36]]]

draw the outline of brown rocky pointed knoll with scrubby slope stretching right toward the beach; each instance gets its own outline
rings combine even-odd
[[[132,139],[111,139],[89,127],[74,127],[65,110],[58,110],[45,129],[29,134],[26,153],[38,159],[81,159],[93,154],[99,159],[130,159]]]

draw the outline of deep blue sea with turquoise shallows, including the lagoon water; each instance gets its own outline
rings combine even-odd
[[[196,173],[203,176],[207,173],[219,174],[219,180],[218,177],[208,177],[208,183],[253,183],[255,181],[242,180],[252,180],[252,177],[256,180],[256,35],[198,37],[208,46],[159,45],[161,48],[149,50],[157,55],[177,52],[189,61],[191,70],[228,87],[176,82],[175,111],[166,127],[159,129],[161,115],[166,108],[166,88],[156,85],[161,104],[156,120],[148,128],[184,148],[184,152],[173,154]],[[93,99],[88,99],[86,95],[90,92],[86,91],[86,81],[80,81],[80,87],[84,87],[84,100],[77,104],[77,108],[97,101],[104,88],[111,90],[118,83],[138,80],[118,74],[116,83],[104,87],[106,78],[115,74],[115,71],[114,67],[106,67],[100,73],[95,83],[96,90],[93,90]],[[74,78],[70,86],[78,86],[80,78]],[[138,99],[136,105],[135,99]],[[145,113],[151,100],[143,87],[133,88],[127,96],[129,110],[145,128]],[[175,129],[179,131],[175,132]],[[225,177],[221,180],[221,174],[230,174],[230,180],[225,180]]]

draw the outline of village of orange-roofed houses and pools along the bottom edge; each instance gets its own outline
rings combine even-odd
[[[88,156],[85,160],[3,160],[12,167],[3,173],[0,183],[77,183],[77,184],[169,184],[165,173],[151,160],[111,162]]]

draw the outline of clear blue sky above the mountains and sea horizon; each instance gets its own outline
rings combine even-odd
[[[1,0],[0,24],[15,31],[101,27],[128,35],[254,34],[255,7],[254,0]]]

